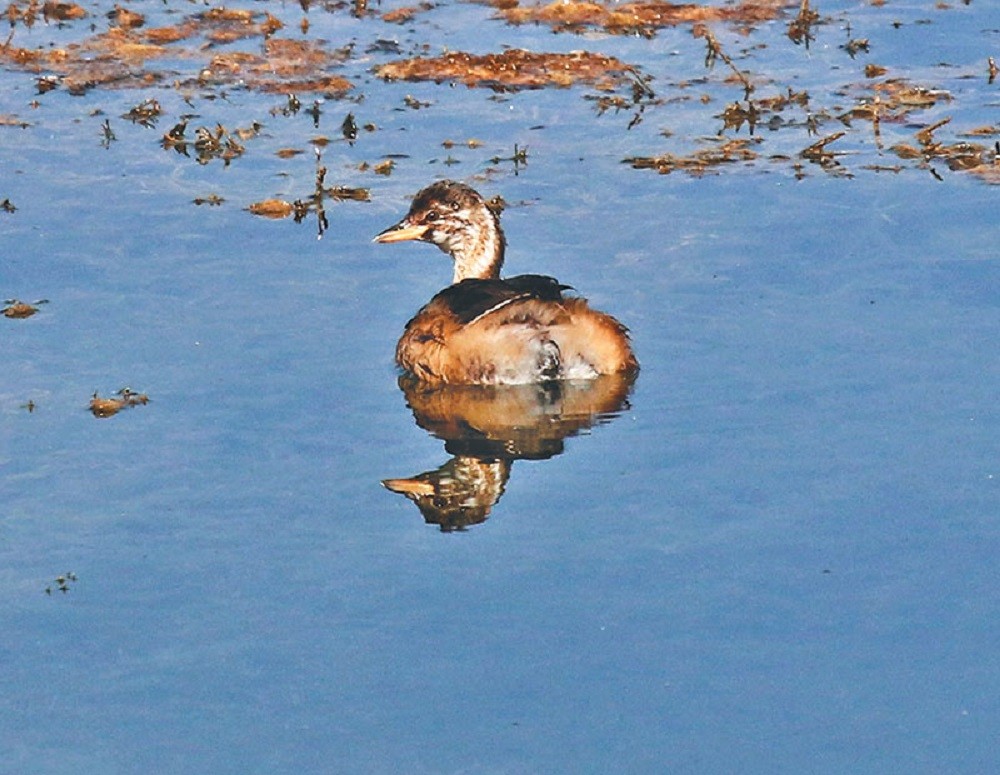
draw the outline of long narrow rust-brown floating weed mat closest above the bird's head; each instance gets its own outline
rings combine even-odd
[[[611,90],[635,70],[615,57],[574,51],[544,54],[514,48],[500,54],[454,51],[440,57],[415,57],[375,68],[387,81],[454,81],[498,90],[541,89],[590,84]]]

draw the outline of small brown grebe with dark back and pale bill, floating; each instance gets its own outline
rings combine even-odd
[[[627,329],[551,277],[500,279],[506,242],[499,218],[469,186],[439,181],[376,242],[420,240],[455,264],[453,284],[409,323],[396,362],[420,380],[521,384],[591,379],[638,368]]]

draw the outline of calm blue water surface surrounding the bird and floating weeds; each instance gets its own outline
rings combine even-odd
[[[0,115],[29,125],[0,127],[16,207],[0,294],[49,303],[0,319],[0,771],[995,767],[997,188],[889,149],[948,116],[948,144],[997,126],[1000,28],[988,3],[824,4],[806,49],[786,35],[798,5],[713,30],[761,96],[805,89],[829,117],[811,134],[789,108],[755,129],[757,159],[701,177],[623,163],[751,137],[724,129],[743,89],[705,68],[690,26],[553,35],[478,5],[404,26],[388,7],[314,8],[305,37],[356,44],[336,70],[355,90],[318,125],[238,85],[39,95],[38,74],[4,71]],[[298,6],[266,7],[302,37]],[[109,9],[12,43],[69,45]],[[869,52],[852,59],[852,38]],[[600,51],[653,76],[659,102],[629,129],[634,109],[598,115],[588,86],[371,74],[422,43]],[[799,157],[846,128],[867,63],[951,99],[880,137],[852,122],[826,168]],[[156,66],[183,81],[199,65]],[[120,117],[147,98],[154,127]],[[348,112],[376,129],[349,144]],[[160,145],[191,113],[263,129],[200,165]],[[318,135],[326,183],[371,191],[327,201],[321,240],[315,214],[245,210],[313,192]],[[359,169],[390,157],[387,177]],[[592,419],[543,391],[519,429],[483,420],[509,470],[463,530],[380,484],[469,451],[443,430],[455,417],[408,406],[392,363],[447,260],[371,244],[442,176],[502,194],[507,270],[620,317],[642,363]],[[87,412],[124,386],[149,404]]]

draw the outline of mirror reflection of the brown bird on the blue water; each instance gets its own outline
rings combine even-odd
[[[628,410],[635,374],[529,385],[431,386],[399,380],[417,425],[452,458],[433,471],[383,485],[413,501],[443,531],[484,522],[503,495],[515,460],[545,460],[563,441]]]

